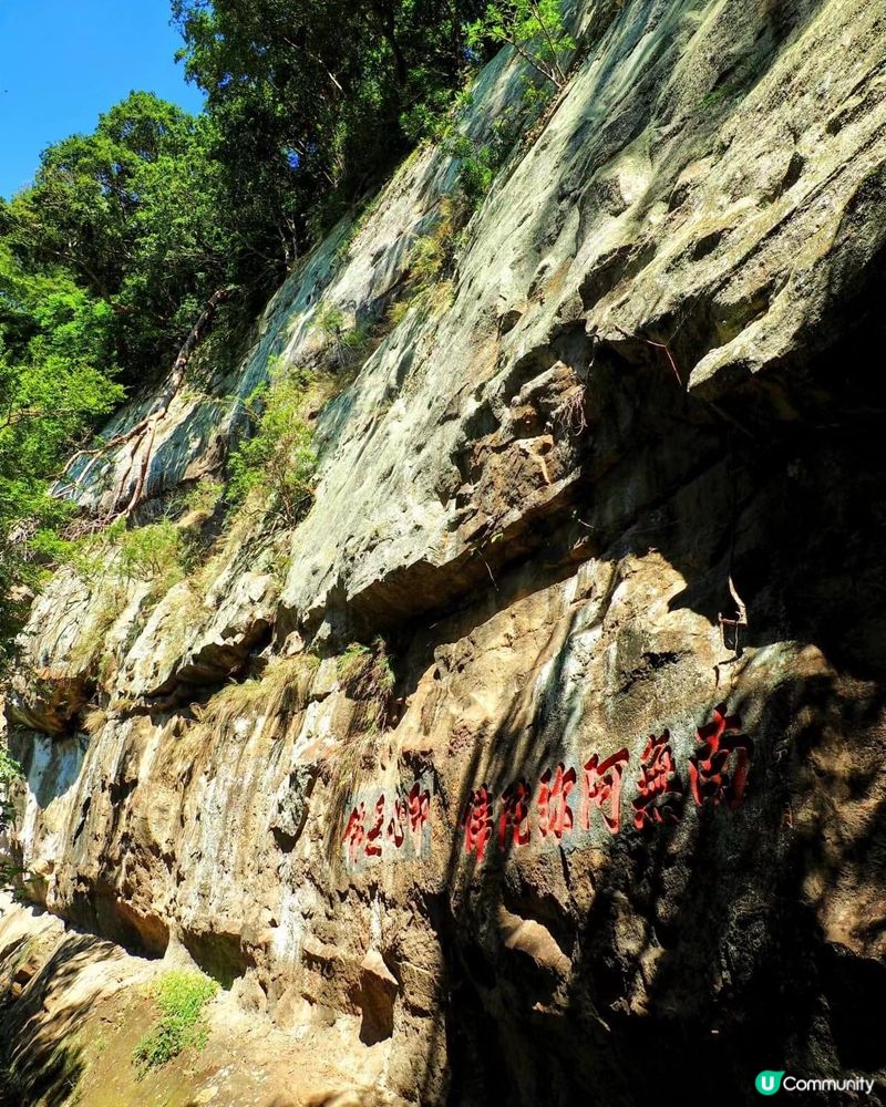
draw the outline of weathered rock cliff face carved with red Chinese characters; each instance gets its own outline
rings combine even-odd
[[[374,1097],[640,1104],[674,1058],[691,1103],[883,1079],[886,11],[578,18],[451,283],[319,411],[308,517],[111,620],[70,572],[35,602],[28,888]],[[477,141],[522,79],[483,73]],[[292,275],[167,413],[153,496],[217,465],[224,396],[334,360],[319,312],[388,311],[456,173],[418,153]]]

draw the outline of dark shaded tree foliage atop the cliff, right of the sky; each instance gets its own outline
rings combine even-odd
[[[231,187],[261,196],[297,254],[449,103],[467,60],[464,23],[482,3],[173,0],[173,10],[187,73],[219,121],[220,156],[246,155]]]

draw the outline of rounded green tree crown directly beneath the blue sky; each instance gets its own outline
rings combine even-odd
[[[206,300],[235,280],[212,121],[137,92],[42,155],[0,211],[22,268],[65,269],[112,312],[125,380],[168,368]]]

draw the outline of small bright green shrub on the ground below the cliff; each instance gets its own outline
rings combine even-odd
[[[140,1039],[133,1054],[141,1076],[188,1046],[203,1048],[208,1034],[204,1007],[217,991],[218,983],[202,972],[175,969],[159,977],[154,990],[159,1021]]]

